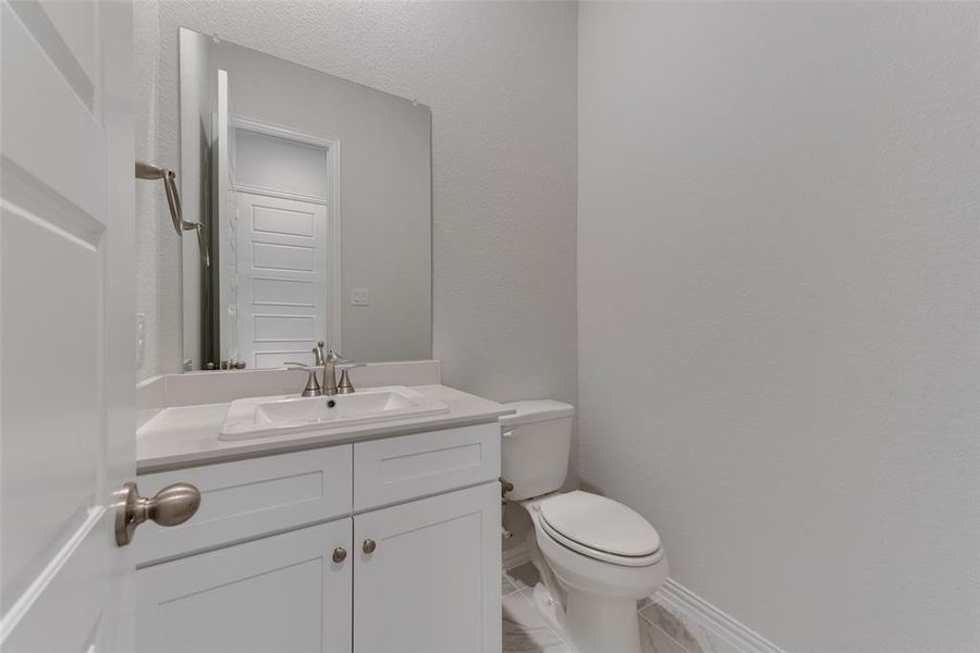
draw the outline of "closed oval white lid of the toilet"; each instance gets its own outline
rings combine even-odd
[[[649,556],[660,535],[635,510],[598,494],[568,492],[541,503],[541,518],[568,540],[612,555]]]

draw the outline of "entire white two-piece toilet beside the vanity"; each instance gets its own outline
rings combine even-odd
[[[535,603],[579,653],[639,653],[637,601],[667,577],[660,535],[621,503],[558,490],[568,471],[575,407],[539,399],[506,404],[500,418],[505,496],[530,515],[527,544],[541,576]]]

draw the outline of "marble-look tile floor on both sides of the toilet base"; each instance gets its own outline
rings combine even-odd
[[[575,653],[538,615],[531,602],[537,582],[538,572],[530,563],[504,571],[501,578],[503,653]],[[661,606],[647,600],[637,607],[644,653],[703,653],[684,625]]]

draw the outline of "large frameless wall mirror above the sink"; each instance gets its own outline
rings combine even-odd
[[[180,33],[186,370],[432,355],[427,107]]]

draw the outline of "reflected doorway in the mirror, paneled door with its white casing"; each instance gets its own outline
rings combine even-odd
[[[226,221],[219,214],[219,232],[235,269],[220,280],[230,286],[222,356],[256,368],[313,362],[310,343],[339,349],[342,329],[340,284],[329,283],[341,276],[340,225],[329,201],[336,144],[250,121],[232,124],[234,212]]]

